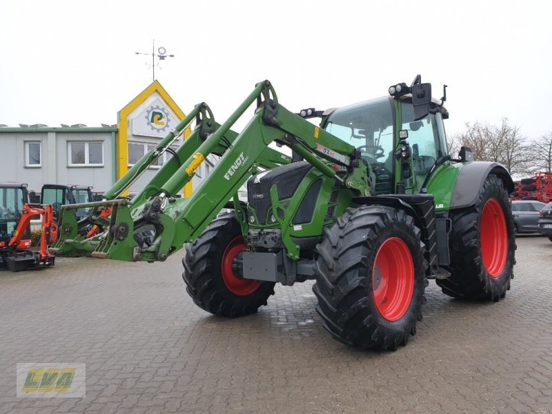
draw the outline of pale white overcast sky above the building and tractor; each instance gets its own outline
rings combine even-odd
[[[552,131],[552,1],[0,0],[0,124],[115,124],[151,81],[221,122],[270,79],[290,110],[386,95],[420,73],[446,128],[508,117]],[[245,120],[239,122],[243,127]]]

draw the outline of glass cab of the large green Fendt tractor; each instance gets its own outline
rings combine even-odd
[[[425,99],[428,88],[420,102],[420,93],[397,92],[411,89],[402,85],[392,86],[391,96],[338,108],[322,121],[324,129],[359,150],[375,195],[420,193],[435,161],[447,153],[444,99]]]

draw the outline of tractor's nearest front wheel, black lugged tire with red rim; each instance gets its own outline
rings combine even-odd
[[[317,246],[316,310],[335,339],[396,350],[422,320],[425,246],[403,211],[349,208]]]

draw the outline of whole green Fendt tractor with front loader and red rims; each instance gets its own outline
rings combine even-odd
[[[186,290],[205,311],[255,313],[276,283],[315,279],[316,310],[333,337],[357,348],[406,345],[422,319],[428,279],[455,298],[506,295],[515,262],[513,181],[500,164],[473,161],[469,148],[447,154],[446,89],[432,99],[418,75],[388,92],[294,113],[262,81],[224,124],[199,103],[103,201],[63,206],[51,250],[155,262],[186,244]],[[253,103],[253,118],[233,132]],[[311,117],[321,117],[319,126]],[[193,133],[140,193],[119,197],[194,120]],[[190,197],[175,197],[208,154],[221,157],[210,176]],[[236,194],[245,183],[247,202]],[[67,214],[85,207],[81,221]],[[107,219],[99,215],[106,207]],[[102,231],[79,237],[90,224]]]

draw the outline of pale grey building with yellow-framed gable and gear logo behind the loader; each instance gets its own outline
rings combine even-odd
[[[117,115],[116,125],[101,127],[0,124],[0,181],[26,183],[36,193],[40,193],[43,184],[79,184],[103,193],[184,119],[184,112],[158,81],[153,81]],[[188,129],[184,137],[189,134]],[[183,142],[179,139],[173,146]],[[141,190],[170,156],[166,153],[144,172],[130,187],[130,195]],[[181,194],[190,195],[216,162],[217,157],[210,155]]]

